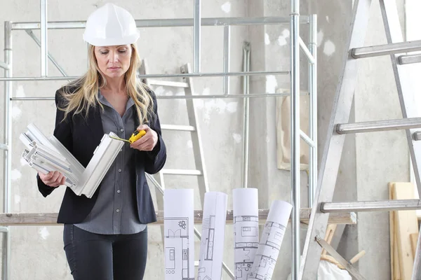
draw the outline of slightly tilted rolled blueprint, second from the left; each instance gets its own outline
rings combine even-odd
[[[225,193],[205,193],[197,280],[221,279],[227,200]]]

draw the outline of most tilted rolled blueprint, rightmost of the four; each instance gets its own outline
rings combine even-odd
[[[288,202],[282,200],[272,202],[265,229],[262,232],[262,237],[260,237],[253,269],[247,279],[272,279],[291,209],[293,209],[293,206]]]

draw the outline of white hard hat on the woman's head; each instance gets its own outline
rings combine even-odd
[[[128,45],[138,41],[139,31],[131,13],[107,3],[89,15],[83,40],[96,46]]]

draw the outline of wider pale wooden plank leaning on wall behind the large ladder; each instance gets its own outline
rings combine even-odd
[[[411,200],[414,198],[414,186],[412,183],[395,183],[393,195],[395,200]],[[418,220],[415,210],[396,211],[395,223],[401,279],[410,280],[414,264],[410,234],[418,232]]]

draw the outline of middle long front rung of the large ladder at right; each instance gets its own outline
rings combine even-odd
[[[421,118],[403,118],[399,120],[378,120],[372,122],[346,123],[336,125],[338,134],[377,132],[386,130],[409,130],[421,127]]]

